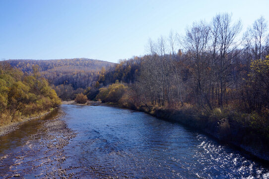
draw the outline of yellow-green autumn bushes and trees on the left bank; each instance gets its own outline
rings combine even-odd
[[[28,75],[0,64],[0,126],[40,115],[61,104],[48,81],[41,77],[39,67],[32,66]]]

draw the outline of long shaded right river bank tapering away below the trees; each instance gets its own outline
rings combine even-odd
[[[238,120],[233,115],[226,118],[221,115],[204,115],[202,113],[175,109],[154,108],[149,106],[135,107],[132,105],[113,104],[110,102],[103,103],[109,106],[124,107],[136,111],[142,111],[152,116],[178,122],[187,127],[199,130],[221,143],[232,145],[247,152],[254,157],[269,161],[269,137],[261,135],[253,128],[242,124],[241,119]],[[219,113],[213,111],[213,113]]]

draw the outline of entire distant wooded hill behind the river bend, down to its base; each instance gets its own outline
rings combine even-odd
[[[33,74],[32,67],[38,65],[41,76],[46,78],[58,96],[73,99],[75,94],[95,84],[99,71],[114,68],[116,64],[86,58],[61,60],[6,60],[11,67]]]

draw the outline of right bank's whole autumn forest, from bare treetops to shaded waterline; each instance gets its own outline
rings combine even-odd
[[[149,54],[100,73],[96,99],[269,151],[267,30],[264,17],[242,32],[240,20],[222,13],[194,22],[184,35],[149,40]],[[90,90],[85,94],[93,98]]]

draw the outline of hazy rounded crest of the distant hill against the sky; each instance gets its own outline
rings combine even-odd
[[[114,63],[93,60],[87,58],[74,58],[74,59],[59,59],[59,60],[7,60],[13,68],[20,69],[23,72],[31,73],[32,66],[38,65],[41,72],[44,71],[84,71],[93,72],[99,71],[102,67],[111,67]]]

